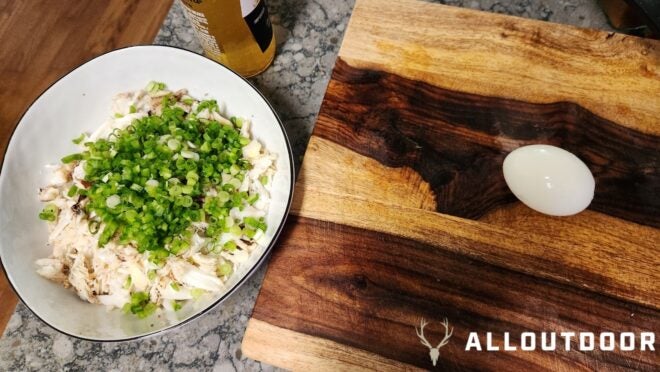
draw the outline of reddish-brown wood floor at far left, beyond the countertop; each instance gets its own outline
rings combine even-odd
[[[81,63],[112,49],[152,43],[171,0],[0,2],[0,162],[20,115]],[[16,297],[0,275],[0,334]]]

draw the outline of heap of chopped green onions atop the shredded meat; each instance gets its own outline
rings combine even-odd
[[[164,89],[165,84],[155,81],[146,87],[152,95]],[[240,133],[243,119],[232,117],[232,125],[198,119],[195,114],[203,110],[219,113],[218,102],[201,101],[196,112],[187,114],[175,105],[177,97],[163,93],[159,114],[113,130],[110,139],[84,142],[87,137],[82,135],[76,142],[84,142],[84,150],[62,159],[83,161],[89,186],[71,186],[67,195],[86,197],[85,212],[95,216],[88,222],[89,232],[98,234],[99,247],[111,240],[131,243],[139,252],[149,252],[149,261],[161,267],[169,255],[190,248],[194,222],[208,223],[204,234],[210,241],[218,241],[223,233],[238,239],[265,230],[262,220],[230,217],[232,208],[243,210],[259,200],[256,193],[239,191],[251,168],[242,151],[250,141]],[[179,101],[195,104],[187,96]],[[136,112],[136,105],[129,111]],[[268,178],[260,180],[266,183]],[[57,213],[54,205],[46,206],[39,216],[56,221]],[[236,249],[232,244],[222,248]]]

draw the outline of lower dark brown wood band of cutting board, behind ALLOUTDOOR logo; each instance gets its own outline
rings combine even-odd
[[[286,249],[273,254],[253,319],[420,368],[430,367],[428,348],[419,343],[414,330],[421,317],[433,326],[426,332],[430,340],[442,338],[438,327],[444,317],[454,327],[451,342],[440,352],[438,365],[444,370],[652,371],[660,363],[660,355],[654,352],[567,352],[563,344],[545,353],[519,348],[466,352],[469,331],[479,332],[484,340],[485,332],[493,332],[494,343],[501,346],[505,331],[517,340],[517,335],[527,331],[540,335],[553,330],[596,334],[655,330],[660,326],[660,312],[415,240],[314,219],[291,219],[281,237]],[[277,335],[282,346],[271,345],[275,350],[271,347],[269,355],[281,348],[297,350],[291,349],[286,334],[270,337]],[[256,345],[250,347],[259,358],[259,348],[267,345],[256,336],[252,339]],[[298,353],[310,352],[302,343],[296,345],[302,347]],[[293,367],[287,359],[273,362]],[[291,359],[297,369],[325,363],[321,356]]]

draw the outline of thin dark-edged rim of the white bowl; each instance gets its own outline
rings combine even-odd
[[[279,225],[278,225],[278,227],[277,227],[277,230],[276,230],[275,233],[273,234],[273,239],[271,240],[270,244],[268,244],[268,246],[266,247],[266,249],[263,251],[263,253],[261,254],[261,257],[259,258],[259,260],[257,260],[257,262],[256,262],[256,263],[250,268],[250,270],[248,270],[248,272],[247,272],[247,273],[246,273],[246,274],[245,274],[245,275],[244,275],[244,276],[243,276],[243,277],[242,277],[242,278],[241,278],[241,279],[240,279],[240,280],[239,280],[239,281],[238,281],[238,282],[232,287],[232,288],[230,288],[226,293],[224,293],[220,298],[218,298],[218,299],[217,299],[216,301],[214,301],[212,304],[210,304],[209,306],[207,306],[207,307],[204,308],[203,310],[199,311],[198,313],[192,315],[191,317],[189,317],[189,318],[187,318],[187,319],[185,319],[185,320],[183,320],[183,321],[181,321],[181,322],[179,322],[179,323],[176,323],[176,324],[173,324],[173,325],[167,326],[167,327],[165,327],[165,328],[162,328],[162,329],[159,329],[159,330],[156,330],[156,331],[153,331],[153,332],[148,332],[148,333],[145,333],[145,334],[142,334],[142,335],[138,335],[138,336],[125,337],[125,338],[118,338],[118,339],[88,338],[88,337],[84,337],[84,336],[81,336],[81,335],[75,335],[75,334],[69,333],[69,332],[67,332],[67,331],[64,331],[64,330],[61,330],[61,329],[55,327],[54,325],[50,324],[49,322],[47,322],[46,320],[44,320],[42,317],[40,317],[40,316],[39,316],[34,310],[32,310],[32,308],[31,308],[31,307],[30,307],[30,306],[29,306],[29,305],[23,300],[23,298],[22,298],[21,295],[19,294],[18,290],[16,289],[16,286],[15,286],[14,283],[12,282],[12,279],[11,279],[9,273],[7,272],[7,269],[5,269],[5,265],[4,265],[4,263],[2,262],[2,255],[0,255],[0,268],[2,268],[2,271],[4,272],[5,277],[7,278],[7,282],[9,283],[9,286],[10,286],[11,289],[14,291],[14,293],[16,294],[16,296],[18,297],[18,299],[21,301],[21,303],[23,303],[23,305],[25,305],[25,307],[28,308],[28,309],[30,310],[30,312],[32,312],[32,314],[34,314],[39,320],[41,320],[43,323],[45,323],[46,325],[48,325],[50,328],[52,328],[52,329],[54,329],[54,330],[56,330],[56,331],[58,331],[58,332],[60,332],[60,333],[62,333],[62,334],[64,334],[64,335],[67,335],[67,336],[70,336],[70,337],[73,337],[73,338],[76,338],[76,339],[79,339],[79,340],[92,341],[92,342],[100,342],[100,343],[119,343],[119,342],[126,342],[126,341],[139,340],[139,339],[143,339],[143,338],[147,338],[147,337],[153,337],[153,336],[160,335],[160,334],[163,334],[163,333],[165,333],[165,332],[171,331],[171,330],[173,330],[173,329],[175,329],[175,328],[178,328],[178,327],[180,327],[180,326],[183,326],[184,324],[190,323],[190,322],[192,322],[193,320],[195,320],[195,319],[201,317],[202,315],[207,314],[207,313],[210,312],[211,310],[215,309],[215,308],[216,308],[217,306],[219,306],[222,302],[224,302],[227,298],[229,298],[232,294],[234,294],[234,292],[236,292],[236,291],[237,291],[237,290],[238,290],[243,284],[245,284],[245,282],[246,282],[248,279],[250,279],[250,278],[252,277],[252,275],[254,275],[254,273],[255,273],[255,272],[261,267],[261,265],[263,265],[263,263],[266,261],[266,259],[268,258],[268,256],[270,256],[270,253],[271,253],[271,251],[273,250],[273,247],[274,247],[275,244],[277,243],[277,240],[279,239],[280,234],[282,233],[282,230],[284,229],[284,226],[285,226],[285,224],[286,224],[286,220],[287,220],[287,218],[288,218],[288,216],[289,216],[289,212],[290,212],[290,210],[291,210],[291,203],[292,203],[292,201],[293,201],[293,192],[294,192],[294,185],[295,185],[295,180],[296,180],[295,165],[294,165],[295,163],[294,163],[294,159],[293,159],[293,151],[292,151],[292,148],[291,148],[291,142],[289,141],[289,136],[287,135],[287,133],[286,133],[286,129],[284,128],[284,124],[282,124],[282,120],[280,119],[279,115],[277,114],[277,112],[276,112],[275,109],[273,108],[273,105],[268,101],[268,99],[263,95],[263,93],[261,93],[261,91],[259,91],[259,89],[257,89],[257,87],[255,87],[255,86],[254,86],[249,80],[247,80],[246,78],[242,77],[241,75],[239,75],[238,73],[236,73],[236,72],[233,71],[232,69],[228,68],[227,66],[224,66],[224,65],[222,65],[221,63],[219,63],[219,62],[217,62],[217,61],[214,61],[214,60],[212,60],[212,59],[210,59],[210,58],[208,58],[208,57],[206,57],[206,56],[204,56],[204,55],[201,55],[201,54],[198,54],[198,53],[192,52],[192,51],[187,50],[187,49],[184,49],[184,48],[180,48],[180,47],[176,47],[176,46],[171,46],[171,45],[159,45],[159,44],[136,44],[136,45],[130,45],[130,46],[126,46],[126,47],[121,47],[121,48],[112,49],[112,50],[109,50],[109,51],[104,52],[104,53],[102,53],[102,54],[99,54],[98,56],[95,56],[95,57],[93,57],[93,58],[91,58],[91,59],[89,59],[89,60],[87,60],[87,61],[85,61],[85,62],[82,62],[81,64],[79,64],[79,65],[76,66],[75,68],[71,69],[70,71],[68,71],[68,72],[65,73],[64,75],[62,75],[62,76],[60,76],[59,78],[57,78],[56,80],[54,80],[51,84],[48,85],[48,87],[46,87],[41,93],[39,93],[39,95],[37,95],[37,97],[34,98],[34,100],[32,100],[32,102],[31,102],[31,103],[28,105],[28,107],[23,111],[23,113],[22,113],[21,116],[19,117],[18,121],[17,121],[16,124],[14,125],[14,128],[12,129],[11,134],[9,135],[9,139],[8,139],[8,141],[7,141],[7,146],[6,146],[5,149],[3,150],[2,162],[0,162],[0,174],[2,174],[2,168],[3,168],[4,163],[5,163],[5,159],[6,159],[7,151],[9,150],[9,145],[11,144],[12,139],[13,139],[13,137],[14,137],[14,134],[16,133],[16,129],[17,129],[18,126],[21,125],[21,123],[23,122],[23,118],[25,117],[25,114],[27,114],[27,112],[30,111],[30,109],[32,108],[32,106],[34,106],[34,104],[35,104],[35,103],[41,98],[41,96],[44,95],[44,93],[46,93],[48,90],[50,90],[55,84],[57,84],[58,82],[60,82],[60,80],[66,78],[67,76],[69,76],[69,75],[70,75],[71,73],[73,73],[74,71],[78,70],[78,69],[81,68],[82,66],[84,66],[84,65],[86,65],[86,64],[88,64],[88,63],[90,63],[90,62],[92,62],[92,61],[94,61],[94,60],[96,60],[96,59],[98,59],[98,58],[101,58],[101,57],[103,57],[103,56],[105,56],[105,55],[107,55],[107,54],[110,54],[110,53],[115,53],[115,52],[122,51],[122,50],[126,50],[126,49],[141,49],[141,48],[159,48],[159,49],[160,49],[160,48],[167,48],[167,49],[175,49],[175,50],[180,51],[180,52],[188,53],[188,54],[190,54],[190,55],[192,55],[192,56],[194,56],[194,57],[203,58],[203,59],[206,59],[206,60],[208,60],[208,61],[211,61],[211,62],[215,63],[215,64],[216,64],[218,67],[220,67],[221,69],[224,69],[224,70],[230,72],[231,74],[233,74],[235,77],[237,77],[237,78],[243,80],[243,81],[248,85],[248,87],[249,87],[250,89],[254,90],[254,91],[255,91],[255,92],[261,97],[261,99],[266,103],[266,105],[268,105],[269,110],[270,110],[270,111],[273,113],[273,115],[275,116],[275,120],[277,121],[277,124],[278,124],[279,127],[280,127],[280,131],[282,132],[282,135],[284,136],[284,142],[285,142],[285,144],[286,144],[287,153],[288,153],[288,157],[289,157],[289,169],[290,169],[290,172],[291,172],[291,182],[290,182],[290,186],[289,186],[289,198],[288,198],[287,203],[286,203],[286,208],[284,209],[284,215],[282,216],[282,220],[279,222]],[[14,312],[15,312],[15,310],[14,310]]]

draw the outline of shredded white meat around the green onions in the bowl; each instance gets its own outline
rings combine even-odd
[[[147,116],[150,112],[159,113],[162,102],[160,97],[166,93],[169,91],[139,90],[118,94],[112,103],[113,116],[88,135],[86,141],[108,138],[114,130],[126,128],[135,119]],[[188,100],[191,97],[185,90],[174,92],[174,95],[190,102]],[[185,104],[181,100],[176,105],[190,112],[198,105],[198,101]],[[208,109],[200,112],[197,117],[231,125],[220,112],[210,112]],[[241,135],[250,138],[250,127],[249,120],[244,119]],[[163,143],[167,140],[161,138]],[[192,154],[197,155],[194,152]],[[194,158],[194,155],[181,154],[184,158]],[[259,199],[253,206],[243,210],[233,208],[230,215],[234,219],[264,217],[270,204],[268,190],[275,174],[276,157],[254,139],[243,148],[243,155],[252,164],[252,169],[247,172],[240,189],[258,193]],[[261,182],[264,176],[268,180],[265,185]],[[67,196],[72,185],[78,188],[89,186],[85,184],[84,178],[84,162],[62,164],[54,167],[48,185],[40,189],[39,199],[57,206],[59,213],[56,220],[49,223],[48,244],[52,254],[37,260],[35,264],[39,275],[72,288],[85,301],[121,308],[130,301],[131,293],[139,291],[149,293],[151,302],[172,310],[173,300],[193,299],[196,291],[221,291],[228,276],[218,275],[219,265],[231,263],[232,272],[236,272],[238,265],[247,261],[250,252],[265,243],[262,231],[257,231],[251,240],[223,233],[217,242],[224,244],[233,241],[236,250],[211,251],[207,239],[196,233],[187,251],[180,255],[170,255],[160,266],[149,260],[148,251],[139,253],[131,245],[110,241],[99,248],[99,234],[93,234],[89,228],[89,218],[94,215],[86,216],[81,212],[87,200]],[[231,177],[228,180],[231,181]],[[217,191],[208,190],[206,195],[217,195]],[[203,231],[206,223],[198,222],[193,226]]]

